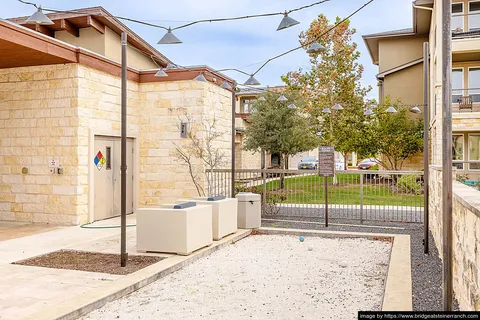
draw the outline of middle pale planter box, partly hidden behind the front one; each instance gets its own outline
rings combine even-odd
[[[237,199],[226,198],[217,201],[207,201],[207,198],[193,198],[178,200],[177,203],[186,201],[196,202],[197,205],[211,206],[213,240],[220,240],[229,234],[237,232]]]

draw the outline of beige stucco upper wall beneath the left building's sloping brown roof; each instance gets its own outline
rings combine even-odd
[[[82,28],[80,36],[75,37],[67,31],[56,31],[55,38],[77,47],[85,48],[101,54],[109,59],[120,62],[122,57],[120,35],[105,27],[102,34],[93,28]],[[127,65],[139,70],[155,69],[152,59],[131,46],[127,47]]]

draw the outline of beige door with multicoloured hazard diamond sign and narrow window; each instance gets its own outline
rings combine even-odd
[[[120,138],[95,137],[94,220],[120,215]],[[133,212],[133,140],[127,139],[127,214]]]

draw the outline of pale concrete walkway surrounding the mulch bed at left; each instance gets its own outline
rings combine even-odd
[[[130,215],[127,224],[135,224],[135,216]],[[96,222],[90,226],[119,225],[120,219],[114,218]],[[249,233],[249,231],[248,231]],[[232,241],[230,238],[248,235],[247,230],[239,230],[223,242]],[[222,241],[214,242],[209,250],[215,250]],[[113,294],[127,294],[134,286],[146,284],[144,278],[137,271],[130,275],[111,275],[104,273],[84,272],[75,270],[49,269],[42,267],[13,265],[12,262],[43,255],[61,249],[88,250],[103,253],[119,253],[120,229],[85,229],[81,227],[63,227],[53,231],[34,235],[17,237],[0,242],[0,319],[50,319],[57,316],[48,316],[52,310],[61,309],[60,306],[68,303],[74,311],[78,301],[85,297],[92,297],[92,301],[83,301],[84,305],[91,306],[95,299],[108,299]],[[129,254],[139,254],[136,251],[136,227],[127,228],[127,251]],[[202,252],[200,250],[199,252]],[[205,253],[205,252],[204,252]],[[208,252],[207,252],[208,253]],[[196,256],[194,253],[189,256]],[[148,253],[146,255],[172,257],[159,263],[174,265],[184,262],[187,257],[169,254]],[[169,262],[169,261],[172,262]],[[177,261],[179,260],[179,261]],[[157,263],[158,264],[158,263]],[[157,264],[152,265],[153,269]],[[149,268],[149,267],[147,267]],[[150,268],[152,269],[152,268]],[[174,268],[172,269],[174,270]],[[150,272],[151,281],[160,277],[154,270]],[[154,275],[154,277],[152,276]],[[133,277],[132,277],[133,276]],[[156,278],[155,278],[156,277]],[[130,279],[130,280],[129,280]],[[143,281],[143,282],[142,282]],[[112,291],[111,289],[114,288]],[[103,295],[103,292],[107,294]],[[72,301],[77,301],[73,303]],[[67,310],[68,311],[68,310]],[[65,312],[68,314],[68,312]],[[52,314],[53,315],[53,314]]]

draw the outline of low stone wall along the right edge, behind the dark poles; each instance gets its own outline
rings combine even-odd
[[[441,174],[431,170],[430,231],[442,257]],[[480,310],[480,191],[453,183],[453,290],[460,310]]]

